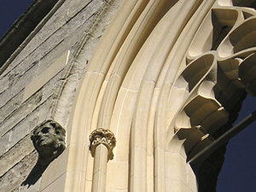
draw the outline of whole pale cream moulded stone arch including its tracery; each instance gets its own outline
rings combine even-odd
[[[255,78],[245,77],[255,71],[247,64],[254,61],[255,25],[246,32],[255,18],[250,11],[245,21],[241,9],[227,5],[231,1],[124,2],[79,84],[67,129],[66,191],[90,191],[92,179],[92,191],[197,191],[187,154],[207,146],[229,119],[216,84],[227,90],[225,102],[237,87],[255,92]],[[233,27],[216,49],[214,21]],[[235,54],[242,58],[232,61]],[[106,160],[102,144],[95,159],[89,155],[89,134],[98,128],[116,137],[113,160]]]

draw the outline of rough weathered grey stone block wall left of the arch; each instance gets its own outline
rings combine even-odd
[[[21,186],[38,160],[30,139],[31,132],[44,119],[58,116],[55,106],[67,79],[74,79],[74,93],[93,49],[121,2],[67,0],[1,74],[0,192],[39,191],[40,179],[31,186]],[[76,61],[81,44],[85,44],[87,54],[81,61]],[[68,49],[66,67],[22,101],[26,86]],[[60,122],[64,127],[69,108],[66,110],[61,116],[66,121]]]

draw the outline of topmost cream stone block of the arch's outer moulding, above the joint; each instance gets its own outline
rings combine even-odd
[[[97,71],[106,73],[109,65],[113,61],[113,57],[117,54],[120,48],[120,42],[123,43],[128,33],[131,30],[133,20],[137,20],[137,11],[143,9],[148,0],[143,1],[125,1],[119,9],[118,14],[114,17],[112,25],[108,27],[104,38],[98,45],[95,55],[93,55],[88,71]]]

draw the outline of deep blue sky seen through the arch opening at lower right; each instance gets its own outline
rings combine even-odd
[[[255,107],[256,98],[247,96],[236,123],[252,113]],[[230,140],[225,154],[224,166],[218,177],[218,192],[256,191],[255,136],[256,121]]]

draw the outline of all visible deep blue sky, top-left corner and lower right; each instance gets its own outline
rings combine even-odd
[[[32,0],[1,0],[0,38],[31,3]],[[238,120],[252,113],[255,106],[256,99],[251,96],[247,97]],[[256,122],[230,141],[224,166],[218,177],[217,192],[256,191],[255,137]]]

